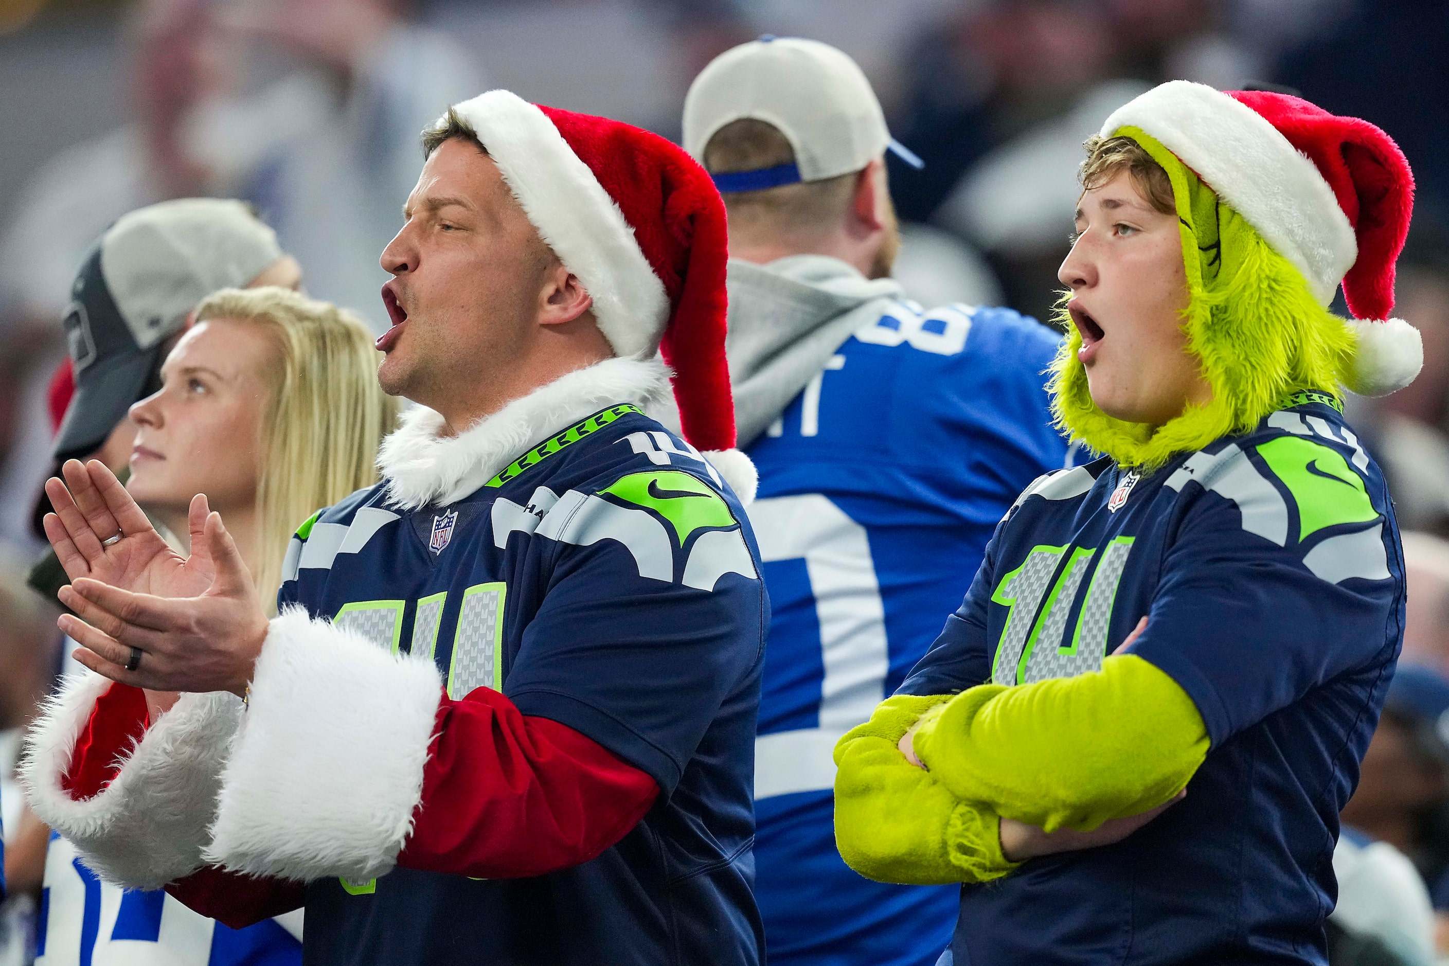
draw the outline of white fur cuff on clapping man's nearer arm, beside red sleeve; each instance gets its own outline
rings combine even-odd
[[[297,608],[271,623],[207,862],[287,879],[388,872],[413,828],[442,679]]]

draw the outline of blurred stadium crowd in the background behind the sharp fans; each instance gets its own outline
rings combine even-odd
[[[1449,907],[1443,0],[0,0],[0,766],[57,666],[54,614],[22,576],[52,469],[46,384],[74,272],[116,217],[243,198],[310,294],[381,330],[378,253],[420,167],[416,133],[446,104],[507,87],[678,138],[696,72],[761,33],[855,56],[926,161],[890,172],[897,274],[926,304],[1048,319],[1080,145],[1164,80],[1297,91],[1403,146],[1419,187],[1397,313],[1423,333],[1424,371],[1349,408],[1413,532],[1406,660],[1429,685],[1391,705],[1355,801]],[[6,785],[7,826],[17,799]]]

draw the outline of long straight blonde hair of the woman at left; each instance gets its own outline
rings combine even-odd
[[[377,449],[397,423],[397,400],[377,384],[381,353],[352,313],[287,288],[223,288],[196,320],[259,326],[277,345],[261,414],[256,484],[256,591],[275,607],[287,542],[319,507],[377,482]]]

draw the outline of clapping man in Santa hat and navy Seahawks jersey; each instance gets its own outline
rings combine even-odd
[[[223,923],[304,905],[309,963],[758,963],[719,194],[507,91],[423,146],[383,482],[301,524],[268,621],[203,495],[183,559],[87,466],[57,550],[93,673],[32,733],[35,810]],[[682,434],[642,411],[665,364]]]

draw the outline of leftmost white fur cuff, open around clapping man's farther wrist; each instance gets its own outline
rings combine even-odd
[[[203,865],[226,746],[241,721],[236,695],[185,694],[151,726],[97,795],[75,801],[61,786],[75,740],[110,681],[70,681],[36,721],[20,768],[35,814],[65,836],[107,882],[155,889]]]

